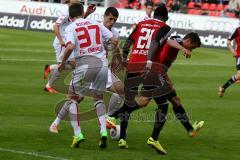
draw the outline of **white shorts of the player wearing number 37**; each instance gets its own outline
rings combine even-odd
[[[93,61],[94,63],[88,63]],[[93,96],[106,91],[108,80],[108,61],[95,56],[83,56],[76,59],[77,66],[73,71],[69,94]]]

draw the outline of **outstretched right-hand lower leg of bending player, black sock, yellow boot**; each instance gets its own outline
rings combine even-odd
[[[167,99],[172,103],[174,114],[176,118],[182,123],[184,128],[187,130],[188,135],[190,137],[195,137],[199,130],[203,127],[204,121],[196,122],[194,123],[194,125],[190,123],[188,115],[175,90],[173,90],[167,95]]]

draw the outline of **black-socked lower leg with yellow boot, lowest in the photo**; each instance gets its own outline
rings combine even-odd
[[[163,149],[158,141],[159,134],[166,122],[168,103],[165,96],[154,98],[158,109],[155,113],[155,123],[151,137],[148,139],[147,144],[153,147],[159,154],[166,154],[167,152]]]

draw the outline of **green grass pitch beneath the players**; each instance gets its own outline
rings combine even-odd
[[[201,48],[191,59],[179,54],[169,71],[191,122],[204,120],[200,134],[191,139],[172,106],[159,141],[168,151],[158,155],[146,145],[153,127],[151,103],[138,110],[128,128],[129,149],[122,150],[109,139],[108,148],[98,147],[97,119],[82,122],[86,141],[78,149],[69,147],[72,129],[61,123],[58,135],[48,132],[55,105],[65,98],[43,91],[43,68],[54,63],[52,33],[0,29],[0,159],[73,160],[237,160],[240,150],[240,84],[231,86],[224,98],[217,89],[235,73],[235,60],[225,49]],[[81,111],[91,109],[85,100]]]

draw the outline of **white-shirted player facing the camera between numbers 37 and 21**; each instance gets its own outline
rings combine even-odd
[[[113,33],[113,36],[114,36],[115,39],[119,39],[119,33],[116,30],[116,28],[113,27],[113,25],[116,23],[116,21],[118,19],[118,16],[119,16],[119,13],[118,13],[117,9],[114,8],[114,7],[109,7],[109,8],[106,9],[106,11],[104,13],[104,20],[102,22],[102,24]],[[107,46],[108,44],[105,44],[105,45],[106,45],[106,48],[111,47],[111,44],[109,45],[109,47]],[[116,54],[120,53],[118,47],[113,49],[112,52],[115,52]],[[114,57],[118,57],[119,55],[116,55]],[[118,58],[116,58],[116,59],[118,59]],[[115,60],[113,60],[113,61],[115,61]],[[114,71],[114,67],[115,66],[112,65],[112,68],[111,68],[112,71]],[[112,96],[110,97],[110,100],[109,100],[108,114],[112,114],[117,109],[119,109],[120,104],[122,102],[122,97],[123,97],[123,94],[124,94],[123,83],[114,73],[111,73],[111,70],[110,69],[108,70],[108,83],[107,83],[107,86],[106,86],[108,90],[113,92],[113,94],[112,94]],[[82,100],[83,100],[83,97],[81,99],[79,99],[78,102],[80,103]],[[65,107],[67,107],[67,106],[65,106]],[[67,115],[67,109],[65,107],[61,108],[57,117],[55,118],[55,120],[50,125],[50,127],[49,127],[50,132],[58,133],[58,128],[59,128],[60,122]],[[113,121],[113,122],[111,122],[111,121]],[[115,120],[111,119],[111,121],[107,121],[108,122],[107,123],[107,128],[114,128]]]

